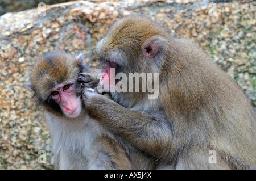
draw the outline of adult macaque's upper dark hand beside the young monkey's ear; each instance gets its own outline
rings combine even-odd
[[[79,78],[77,78],[77,82],[82,83],[81,84],[82,87],[94,88],[94,87],[97,87],[99,80],[93,78],[92,75],[90,75],[89,73],[84,72],[79,74]]]

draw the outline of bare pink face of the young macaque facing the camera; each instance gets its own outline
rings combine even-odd
[[[52,99],[68,117],[77,117],[81,113],[81,99],[73,91],[74,86],[74,84],[59,85],[52,91]]]

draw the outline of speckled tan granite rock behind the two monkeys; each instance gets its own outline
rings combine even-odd
[[[256,111],[256,2],[212,2],[216,16],[208,0],[74,1],[0,16],[0,169],[53,168],[46,120],[24,86],[34,60],[53,50],[89,53],[115,20],[129,14],[149,15],[172,36],[198,42]],[[46,163],[38,163],[39,150],[46,151]]]

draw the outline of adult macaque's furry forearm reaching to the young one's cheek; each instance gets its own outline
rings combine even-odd
[[[173,129],[163,116],[144,115],[142,112],[122,107],[113,100],[90,91],[84,92],[83,101],[90,116],[123,140],[147,151],[148,154],[159,155],[159,157],[163,156],[162,153],[173,154],[171,149]],[[156,117],[163,119],[156,119]]]

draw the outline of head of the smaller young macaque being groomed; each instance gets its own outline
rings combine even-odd
[[[59,116],[77,117],[81,113],[81,86],[77,75],[84,68],[82,55],[52,52],[39,58],[28,86],[38,105]]]

